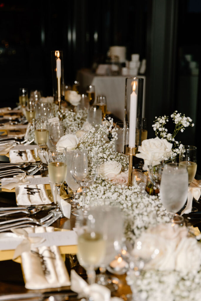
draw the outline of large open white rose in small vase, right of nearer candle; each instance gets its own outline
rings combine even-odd
[[[172,143],[159,137],[146,139],[142,141],[142,146],[138,147],[140,154],[136,154],[137,158],[144,159],[145,165],[157,165],[170,155]]]

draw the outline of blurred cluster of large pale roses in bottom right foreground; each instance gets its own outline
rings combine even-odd
[[[147,229],[136,239],[132,254],[144,260],[145,269],[185,274],[200,270],[200,244],[185,226],[167,223]]]

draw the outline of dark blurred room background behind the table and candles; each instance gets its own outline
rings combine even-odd
[[[14,106],[21,86],[52,95],[51,50],[63,50],[68,85],[110,46],[126,46],[128,60],[147,60],[149,138],[155,116],[178,110],[195,123],[178,139],[199,147],[200,28],[199,0],[0,1],[1,106]]]

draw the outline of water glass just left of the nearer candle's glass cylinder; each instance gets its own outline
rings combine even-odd
[[[124,152],[124,144],[125,141],[129,139],[129,125],[126,123],[126,127],[124,128],[124,122],[118,121],[116,123],[115,128],[117,128],[117,140],[115,140],[115,153],[123,153]],[[125,135],[125,137],[124,137]],[[126,145],[126,144],[125,144]]]

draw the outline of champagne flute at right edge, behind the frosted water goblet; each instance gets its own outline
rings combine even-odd
[[[184,145],[179,154],[179,165],[186,166],[188,172],[188,185],[193,182],[197,170],[196,160],[197,148],[191,145]]]

